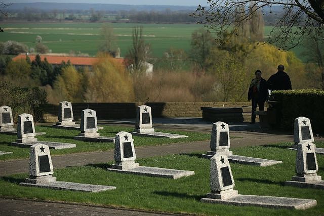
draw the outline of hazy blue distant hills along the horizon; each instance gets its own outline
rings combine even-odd
[[[194,11],[194,6],[161,6],[161,5],[117,5],[117,4],[86,4],[86,3],[13,3],[7,8],[8,11],[20,11],[28,9],[36,9],[42,11],[52,10],[80,10],[86,11],[93,9],[95,11]]]

